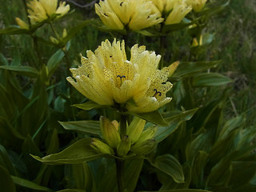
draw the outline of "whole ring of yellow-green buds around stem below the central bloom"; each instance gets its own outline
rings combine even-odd
[[[158,127],[150,126],[144,130],[145,123],[145,120],[134,117],[127,127],[127,134],[120,135],[117,121],[110,122],[110,119],[101,117],[103,142],[98,138],[92,138],[90,146],[98,153],[117,155],[122,158],[148,154],[157,145],[154,134]]]

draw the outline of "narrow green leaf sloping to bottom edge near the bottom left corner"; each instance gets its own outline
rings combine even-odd
[[[11,176],[11,178],[14,180],[14,183],[18,186],[23,186],[32,190],[40,190],[40,191],[49,191],[49,192],[53,192],[53,190],[50,190],[49,188],[45,187],[45,186],[38,186],[38,184],[34,183],[34,182],[30,182],[24,178],[18,178],[15,176]]]

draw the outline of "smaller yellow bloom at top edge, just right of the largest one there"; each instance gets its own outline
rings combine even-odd
[[[182,21],[192,7],[185,0],[152,0],[154,5],[162,13],[162,17],[166,18],[165,24],[175,24]]]

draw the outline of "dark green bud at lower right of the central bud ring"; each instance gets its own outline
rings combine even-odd
[[[156,146],[156,142],[153,138],[147,139],[144,142],[137,142],[130,148],[130,151],[136,155],[149,154],[154,147]]]

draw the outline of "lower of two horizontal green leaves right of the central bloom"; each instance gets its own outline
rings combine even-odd
[[[193,86],[222,86],[232,80],[222,74],[202,73],[193,77]]]

